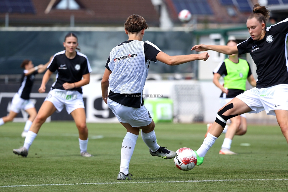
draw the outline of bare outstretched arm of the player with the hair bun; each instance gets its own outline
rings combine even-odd
[[[224,53],[226,55],[232,55],[232,54],[238,53],[237,45],[227,46],[227,45],[203,45],[201,44],[201,45],[194,45],[191,48],[191,51],[192,50],[195,50],[197,52],[212,50],[212,51],[217,51],[219,53]]]

